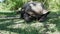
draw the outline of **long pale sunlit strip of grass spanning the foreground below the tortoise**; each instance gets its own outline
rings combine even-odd
[[[7,26],[7,28],[20,28],[20,29],[26,29],[26,28],[34,28],[34,29],[42,29],[44,26],[43,23],[31,23],[31,24],[27,24],[27,23],[16,23],[14,25],[10,25]]]

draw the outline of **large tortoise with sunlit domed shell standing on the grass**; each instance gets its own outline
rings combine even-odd
[[[44,5],[40,2],[28,2],[23,5],[20,13],[21,18],[24,18],[26,21],[31,21],[35,18],[42,22],[46,20],[50,12],[45,10]]]

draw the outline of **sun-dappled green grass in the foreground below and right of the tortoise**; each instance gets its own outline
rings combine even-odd
[[[49,34],[60,32],[59,11],[51,12],[45,22],[36,20],[27,23],[24,19],[0,20],[0,33],[2,34],[44,34],[46,32]]]

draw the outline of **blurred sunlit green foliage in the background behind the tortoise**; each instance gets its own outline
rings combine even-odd
[[[24,3],[30,0],[2,0],[0,1],[0,10],[17,10],[22,7]],[[60,9],[60,0],[33,0],[45,4],[48,10],[58,11]]]

